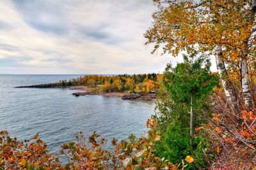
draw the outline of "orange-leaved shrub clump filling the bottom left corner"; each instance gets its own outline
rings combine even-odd
[[[24,143],[10,138],[7,131],[0,132],[0,169],[62,169],[60,160],[49,153],[47,145],[38,138],[25,140]]]

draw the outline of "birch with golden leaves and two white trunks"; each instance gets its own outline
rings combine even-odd
[[[154,2],[159,10],[153,15],[152,27],[145,33],[146,44],[155,44],[153,52],[163,46],[163,53],[177,55],[190,46],[202,53],[215,54],[229,105],[236,103],[236,99],[228,71],[236,70],[241,77],[244,103],[249,107],[248,65],[252,65],[255,59],[255,1]]]

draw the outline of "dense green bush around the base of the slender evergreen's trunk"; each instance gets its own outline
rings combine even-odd
[[[164,157],[173,164],[179,164],[182,160],[191,155],[195,162],[189,164],[188,169],[197,167],[206,168],[209,166],[209,160],[213,160],[209,155],[209,142],[202,134],[197,134],[194,138],[193,148],[189,145],[189,128],[177,121],[172,122],[166,132],[163,134],[163,139],[157,141],[155,145],[156,155]]]

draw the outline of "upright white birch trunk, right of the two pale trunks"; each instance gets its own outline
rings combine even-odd
[[[248,63],[244,58],[241,59],[241,78],[242,78],[244,104],[246,108],[249,109],[252,101],[251,101],[251,94],[250,94],[250,88],[249,88]]]

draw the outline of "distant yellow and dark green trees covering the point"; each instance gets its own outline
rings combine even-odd
[[[157,90],[163,74],[119,74],[113,76],[84,75],[72,80],[60,81],[61,86],[85,85],[104,92],[142,91],[150,92]]]

